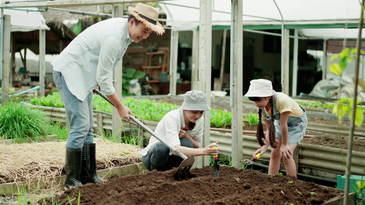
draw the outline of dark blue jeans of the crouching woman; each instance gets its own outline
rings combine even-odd
[[[183,147],[194,148],[193,143],[187,139],[180,139],[180,145]],[[169,155],[170,149],[158,142],[153,144],[146,156],[142,156],[143,165],[150,171],[156,169],[157,171],[170,170],[173,167],[179,167],[183,158],[180,156]]]

